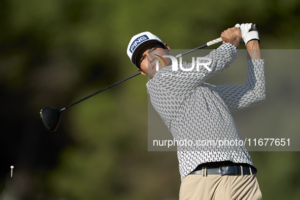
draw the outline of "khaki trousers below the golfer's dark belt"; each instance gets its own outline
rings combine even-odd
[[[187,175],[181,181],[180,200],[261,199],[255,175]]]

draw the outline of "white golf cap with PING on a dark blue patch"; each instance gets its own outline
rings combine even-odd
[[[127,55],[129,56],[132,63],[138,66],[136,63],[136,56],[138,51],[143,46],[151,42],[158,42],[163,44],[163,42],[159,38],[157,38],[156,36],[151,34],[151,32],[148,31],[141,32],[140,34],[135,35],[134,37],[131,38],[127,47]]]

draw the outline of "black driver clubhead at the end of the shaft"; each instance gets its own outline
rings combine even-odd
[[[61,110],[54,107],[45,107],[40,112],[45,127],[54,132],[59,125]]]

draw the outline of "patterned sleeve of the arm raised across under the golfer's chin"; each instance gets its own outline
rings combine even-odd
[[[194,68],[191,71],[184,71],[178,66],[178,71],[172,71],[172,65],[166,66],[159,70],[153,77],[152,81],[164,92],[170,92],[171,95],[184,97],[193,92],[205,80],[225,70],[235,61],[238,55],[237,48],[226,43],[218,49],[212,50],[209,55],[205,56],[211,59],[211,64],[207,65],[211,71],[204,66]],[[196,61],[195,61],[196,62]],[[200,62],[208,62],[208,60],[200,60]],[[183,64],[185,69],[190,69],[192,63]]]

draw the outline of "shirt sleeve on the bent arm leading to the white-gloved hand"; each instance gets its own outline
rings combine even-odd
[[[245,86],[220,85],[216,91],[230,111],[237,111],[263,102],[265,95],[264,60],[248,60],[248,74]]]

